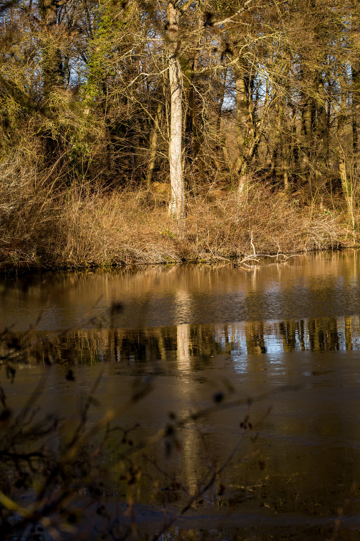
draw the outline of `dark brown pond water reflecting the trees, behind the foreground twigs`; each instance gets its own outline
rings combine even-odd
[[[46,374],[35,406],[73,419],[100,374],[94,424],[151,378],[106,444],[106,502],[125,521],[123,434],[139,448],[139,538],[194,494],[161,539],[358,538],[359,252],[49,273],[0,292],[0,320],[26,345],[12,384],[0,368],[12,407]],[[97,518],[82,527],[100,538]]]

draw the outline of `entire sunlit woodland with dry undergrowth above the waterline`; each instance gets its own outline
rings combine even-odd
[[[0,267],[356,246],[358,0],[3,0]]]

